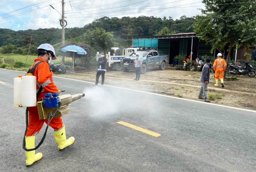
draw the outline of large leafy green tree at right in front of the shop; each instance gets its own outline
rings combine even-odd
[[[232,47],[237,44],[252,45],[256,42],[256,2],[254,0],[203,0],[205,10],[196,16],[194,31],[200,39],[224,53],[229,47],[227,64]],[[241,40],[241,42],[239,42]]]

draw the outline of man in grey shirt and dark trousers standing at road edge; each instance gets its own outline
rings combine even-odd
[[[202,69],[202,76],[201,76],[202,86],[200,88],[199,95],[198,95],[198,99],[204,99],[204,101],[209,103],[211,101],[208,100],[208,97],[207,97],[207,85],[210,82],[210,64],[211,64],[211,59],[206,59],[206,63]]]

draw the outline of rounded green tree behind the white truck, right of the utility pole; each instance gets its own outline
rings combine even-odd
[[[85,33],[88,44],[97,51],[110,50],[114,46],[114,33],[106,32],[104,29],[95,28]]]

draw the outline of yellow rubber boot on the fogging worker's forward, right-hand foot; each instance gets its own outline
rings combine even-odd
[[[63,125],[63,128],[61,130],[54,131],[54,137],[56,143],[58,144],[59,150],[62,150],[75,142],[74,137],[70,137],[68,140],[66,139],[65,125]]]

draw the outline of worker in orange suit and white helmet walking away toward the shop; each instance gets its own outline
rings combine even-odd
[[[214,86],[218,86],[218,79],[221,81],[222,88],[224,87],[224,71],[227,68],[227,63],[224,59],[222,59],[222,54],[217,54],[218,59],[214,61],[214,71],[215,71],[215,81],[216,84]]]

